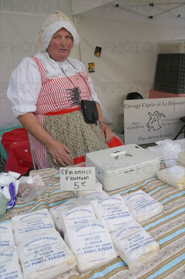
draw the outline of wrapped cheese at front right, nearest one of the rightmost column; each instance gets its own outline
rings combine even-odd
[[[158,243],[135,220],[110,234],[116,251],[119,251],[118,256],[129,269],[159,251]]]

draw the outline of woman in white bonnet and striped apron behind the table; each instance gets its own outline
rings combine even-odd
[[[8,98],[15,117],[31,134],[38,169],[71,165],[76,157],[108,148],[113,133],[83,63],[68,59],[71,48],[79,45],[70,19],[56,11],[45,20],[37,39],[42,50],[24,58],[13,71]],[[80,99],[96,101],[98,126],[84,122]]]

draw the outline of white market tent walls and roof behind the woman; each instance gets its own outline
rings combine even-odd
[[[46,16],[66,13],[80,34],[80,46],[71,56],[80,59],[102,103],[105,120],[121,130],[120,110],[129,92],[148,98],[154,86],[161,46],[185,39],[184,1],[1,1],[1,126],[16,126],[7,99],[13,69],[23,57],[39,51],[34,43]],[[96,46],[101,57],[94,55]],[[19,86],[19,85],[18,85]]]

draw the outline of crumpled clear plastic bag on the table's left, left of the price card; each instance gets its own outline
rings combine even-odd
[[[43,191],[43,185],[20,183],[18,196],[21,197],[23,201],[28,202],[37,198]]]

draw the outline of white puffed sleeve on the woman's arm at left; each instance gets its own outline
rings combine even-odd
[[[7,91],[15,117],[36,111],[40,89],[41,77],[36,63],[30,57],[23,58],[12,72]]]

